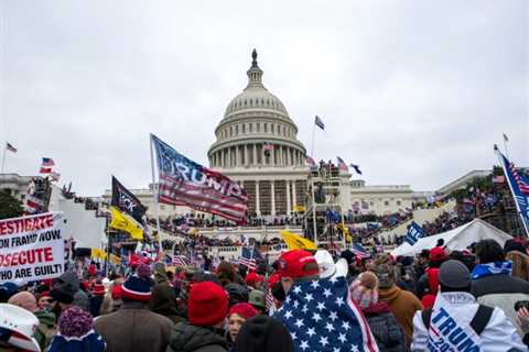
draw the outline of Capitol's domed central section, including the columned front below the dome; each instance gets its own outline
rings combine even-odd
[[[226,108],[207,156],[212,168],[246,189],[249,215],[290,215],[304,204],[306,151],[287,108],[264,88],[262,74],[253,51],[248,86]]]

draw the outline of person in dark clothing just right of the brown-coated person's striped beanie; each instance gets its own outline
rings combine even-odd
[[[176,323],[183,318],[179,315],[176,294],[170,285],[165,265],[163,263],[156,263],[154,267],[155,285],[151,289],[152,298],[149,300],[149,309],[168,317],[172,322]]]

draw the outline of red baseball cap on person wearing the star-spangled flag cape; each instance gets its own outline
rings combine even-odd
[[[278,274],[281,277],[298,278],[317,275],[319,273],[316,258],[307,251],[292,250],[281,254],[278,260]]]

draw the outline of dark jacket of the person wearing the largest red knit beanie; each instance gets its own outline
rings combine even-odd
[[[213,328],[195,327],[180,322],[171,330],[166,352],[226,352],[224,337]]]

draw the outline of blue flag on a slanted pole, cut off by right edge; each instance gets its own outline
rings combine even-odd
[[[512,193],[512,198],[515,198],[516,208],[520,215],[521,222],[523,223],[526,233],[529,235],[529,178],[521,175],[516,169],[515,164],[509,162],[497,146],[495,146],[495,150],[501,162],[501,167],[504,168],[504,174],[509,184],[510,191]]]

